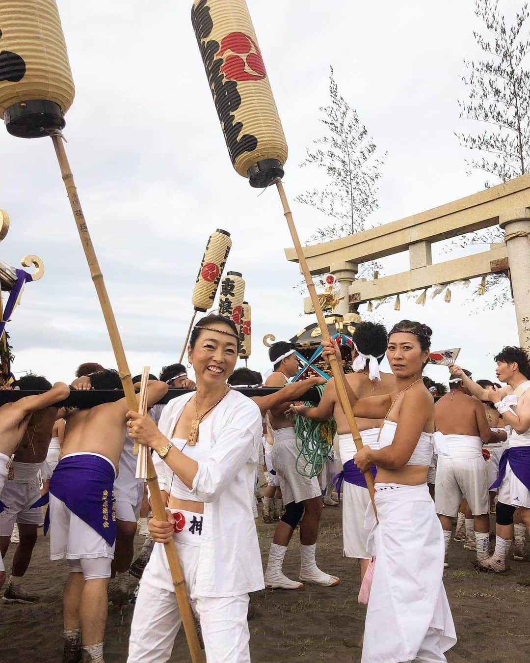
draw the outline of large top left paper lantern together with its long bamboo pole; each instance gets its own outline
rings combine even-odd
[[[68,192],[70,206],[79,237],[85,251],[91,277],[101,304],[109,332],[127,404],[137,410],[131,372],[113,314],[103,274],[99,269],[87,223],[79,203],[74,176],[64,150],[61,130],[64,114],[74,101],[74,84],[68,62],[66,43],[55,0],[2,0],[0,2],[0,30],[3,48],[0,81],[0,109],[9,133],[22,138],[52,138],[62,178]],[[148,483],[153,512],[159,520],[166,520],[166,511],[158,487],[156,471],[150,454]],[[184,576],[176,548],[166,544],[166,555],[184,623],[187,643],[193,663],[203,658],[195,622],[186,595]]]

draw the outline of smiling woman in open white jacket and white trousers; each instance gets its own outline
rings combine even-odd
[[[181,623],[162,546],[171,540],[201,622],[207,661],[250,661],[248,592],[264,587],[252,516],[262,418],[250,398],[227,385],[238,349],[233,322],[202,318],[188,347],[197,391],[171,400],[158,428],[127,413],[131,438],[164,459],[169,493],[168,521],[149,523],[156,545],[134,608],[128,663],[162,663],[171,656]]]

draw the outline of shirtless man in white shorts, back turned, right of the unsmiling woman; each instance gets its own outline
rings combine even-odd
[[[466,377],[467,373],[464,372]],[[438,457],[435,483],[435,507],[445,541],[445,568],[449,566],[447,553],[452,518],[458,513],[462,497],[466,499],[474,519],[477,560],[482,562],[488,558],[490,500],[482,443],[502,442],[506,437],[504,431],[492,430],[482,403],[470,395],[459,377],[451,378],[449,389],[449,394],[442,396],[435,404],[436,430],[444,436],[449,448],[449,456]]]

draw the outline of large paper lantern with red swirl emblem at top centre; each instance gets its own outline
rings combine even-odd
[[[251,186],[284,176],[287,143],[245,0],[195,0],[191,23],[232,165]]]

